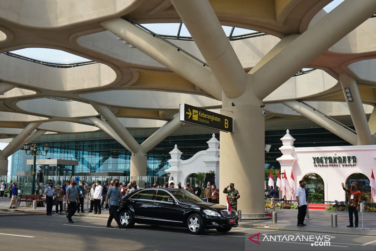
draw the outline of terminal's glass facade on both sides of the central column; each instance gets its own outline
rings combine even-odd
[[[265,144],[271,145],[268,153],[265,153],[265,168],[280,169],[276,158],[281,156],[279,148],[282,146],[280,138],[286,134],[286,130],[265,131]],[[294,146],[347,146],[350,145],[342,138],[327,131],[324,128],[291,129],[290,134],[296,139]],[[163,176],[164,170],[169,167],[169,152],[176,144],[183,152],[182,160],[191,158],[196,152],[206,150],[212,134],[174,135],[165,138],[155,148],[147,153],[147,176]],[[219,139],[219,134],[215,134]],[[142,143],[146,138],[136,138]],[[44,145],[44,142],[40,144]],[[130,152],[124,149],[114,139],[79,140],[49,142],[50,151],[46,156],[38,156],[38,159],[52,158],[77,160],[79,165],[75,167],[75,173],[123,173],[129,176]],[[23,171],[29,171],[31,165],[26,165],[26,160],[32,159],[26,155],[23,149],[12,156],[11,175],[22,175]],[[56,175],[56,167],[43,167],[44,175]],[[58,175],[69,175],[71,167],[59,167]],[[67,170],[67,172],[64,172]],[[21,171],[21,172],[19,172]],[[38,171],[38,167],[37,167]],[[30,172],[31,173],[31,172]]]

